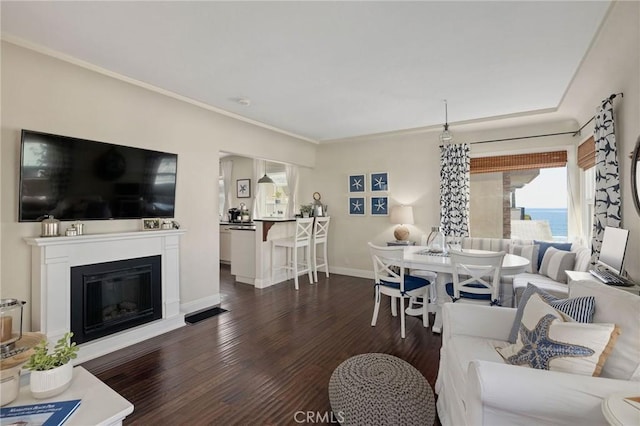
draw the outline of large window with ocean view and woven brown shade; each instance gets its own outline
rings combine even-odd
[[[474,237],[567,240],[566,151],[471,159]]]

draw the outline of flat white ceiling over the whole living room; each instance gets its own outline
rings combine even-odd
[[[327,141],[441,126],[444,99],[452,127],[554,111],[609,6],[2,1],[1,24],[8,40]]]

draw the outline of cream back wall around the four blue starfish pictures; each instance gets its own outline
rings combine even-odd
[[[437,134],[413,134],[363,138],[346,143],[323,144],[318,149],[316,168],[300,173],[299,204],[322,195],[331,216],[329,264],[337,272],[362,275],[371,269],[367,241],[392,241],[397,226],[388,217],[348,214],[348,176],[357,173],[388,172],[390,205],[414,206],[415,225],[408,225],[410,238],[438,226],[440,159]],[[367,200],[371,192],[366,193]],[[353,195],[352,195],[353,196]],[[428,233],[428,232],[427,232]]]

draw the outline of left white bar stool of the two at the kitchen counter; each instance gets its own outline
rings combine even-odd
[[[274,282],[276,270],[286,269],[287,279],[289,271],[293,272],[293,281],[298,287],[298,275],[307,273],[309,282],[313,283],[313,266],[311,258],[311,234],[313,232],[313,218],[296,219],[296,233],[292,237],[278,238],[271,242],[271,282]],[[286,264],[276,267],[275,254],[277,247],[284,247],[287,250]],[[304,249],[303,259],[298,259],[298,249]]]

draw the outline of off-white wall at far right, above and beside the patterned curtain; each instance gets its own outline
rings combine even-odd
[[[625,267],[640,281],[640,214],[631,198],[629,154],[640,136],[640,2],[617,1],[584,58],[560,108],[586,123],[600,101],[611,93],[624,93],[614,100],[616,142],[620,163],[622,226],[629,229]],[[593,126],[585,128],[588,136]]]

